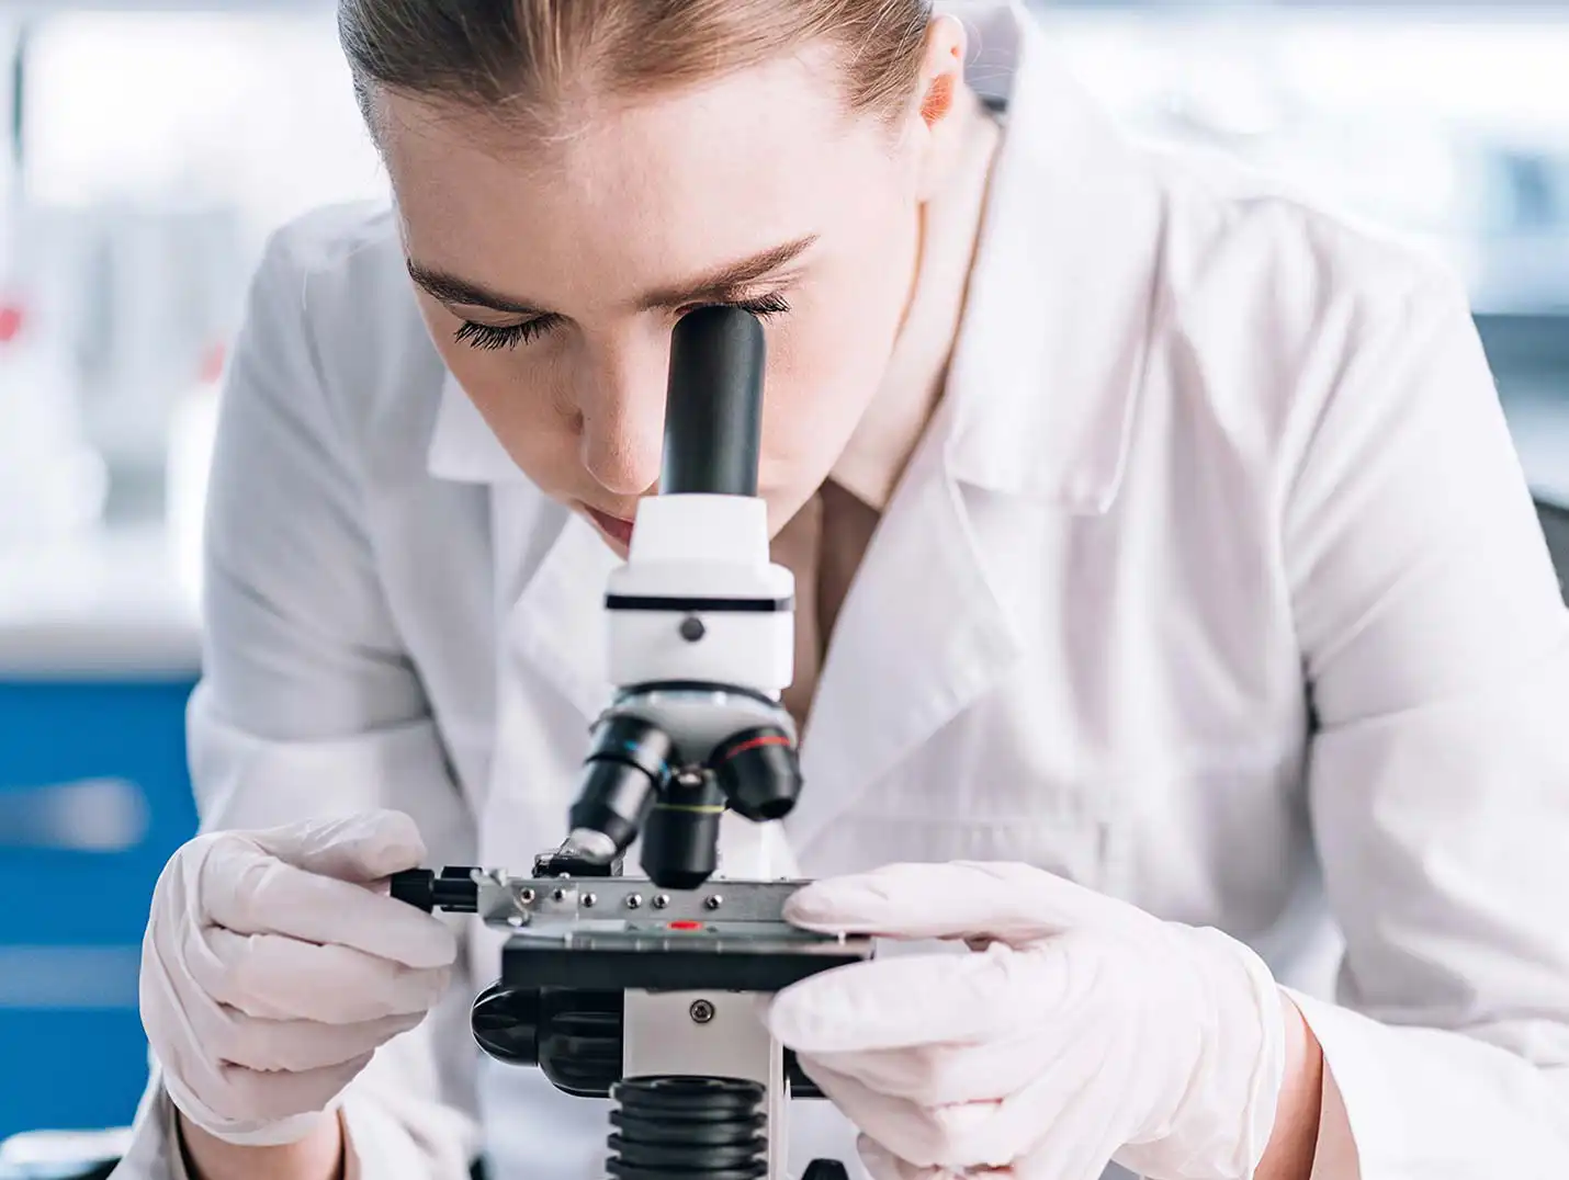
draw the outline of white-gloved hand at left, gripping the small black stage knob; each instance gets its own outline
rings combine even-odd
[[[375,891],[425,847],[395,811],[198,836],[152,894],[141,1020],[163,1086],[235,1144],[303,1139],[447,987],[457,940]]]

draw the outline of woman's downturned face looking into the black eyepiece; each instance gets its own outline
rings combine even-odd
[[[957,71],[962,46],[946,56]],[[570,133],[511,144],[483,119],[380,99],[442,359],[516,464],[623,554],[657,486],[684,312],[733,303],[766,325],[758,482],[775,530],[877,392],[915,273],[935,121],[918,100],[894,127],[849,115],[832,69],[800,55],[584,105],[562,111]]]

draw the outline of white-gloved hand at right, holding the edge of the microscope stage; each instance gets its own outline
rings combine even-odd
[[[877,1180],[999,1169],[1250,1177],[1285,1069],[1265,963],[1025,865],[896,865],[808,885],[797,926],[963,938],[781,992],[769,1026],[863,1131]]]

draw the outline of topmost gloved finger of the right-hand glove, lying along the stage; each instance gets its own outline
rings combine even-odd
[[[1152,920],[1127,902],[1029,865],[888,865],[802,887],[784,918],[808,931],[885,938],[1001,938],[1021,945],[1064,931],[1133,929]]]

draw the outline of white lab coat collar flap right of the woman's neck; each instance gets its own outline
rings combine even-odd
[[[1117,496],[1159,275],[1159,187],[1018,5],[968,17],[1007,127],[954,344],[949,472],[1076,515]],[[987,89],[990,83],[990,89]]]

